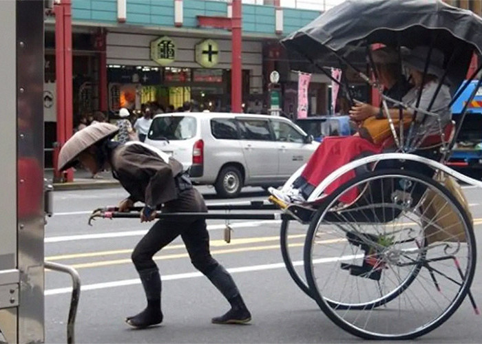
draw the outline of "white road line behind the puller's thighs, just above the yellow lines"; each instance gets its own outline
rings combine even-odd
[[[281,220],[267,219],[262,221],[247,221],[247,222],[231,222],[229,226],[231,228],[244,228],[244,227],[258,227],[263,224],[280,224]],[[207,230],[218,230],[226,228],[225,224],[210,224],[207,226]],[[63,241],[76,241],[76,240],[88,240],[88,239],[107,239],[113,237],[134,237],[138,235],[145,235],[147,230],[126,230],[123,232],[114,233],[96,233],[96,234],[81,234],[81,235],[63,235],[60,237],[46,237],[44,242],[63,242]]]

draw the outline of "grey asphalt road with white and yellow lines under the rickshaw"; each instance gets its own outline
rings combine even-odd
[[[208,203],[265,200],[262,189],[246,188],[242,197],[220,200],[213,189],[199,188]],[[478,189],[465,188],[474,219],[482,219]],[[83,291],[76,321],[77,343],[358,343],[335,326],[291,280],[280,254],[279,221],[233,221],[233,241],[225,244],[224,221],[208,222],[211,251],[233,274],[253,314],[249,325],[212,325],[212,316],[226,312],[228,303],[191,266],[180,239],[156,256],[163,275],[163,325],[132,330],[125,316],[145,307],[142,287],[130,253],[148,224],[136,219],[100,219],[87,226],[93,208],[117,204],[122,189],[57,191],[54,216],[45,228],[46,260],[70,264],[81,275]],[[480,203],[479,203],[480,202]],[[476,222],[481,241],[482,222]],[[302,225],[291,225],[293,260],[302,259]],[[479,250],[480,252],[481,250]],[[478,254],[481,261],[481,254]],[[301,268],[301,267],[300,267]],[[46,341],[65,343],[70,279],[45,273]],[[476,271],[472,292],[482,303],[482,274]],[[481,343],[481,317],[468,300],[439,329],[417,343]]]

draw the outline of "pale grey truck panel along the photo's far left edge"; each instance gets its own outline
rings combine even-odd
[[[2,147],[0,159],[0,281],[1,284],[16,282],[18,291],[19,275],[14,275],[17,267],[17,104],[15,89],[15,1],[2,3],[0,11],[0,94],[2,95],[2,125],[0,137]],[[8,298],[10,290],[0,291],[0,342],[17,342],[17,309],[12,308]],[[18,300],[18,297],[16,298]],[[2,301],[5,300],[5,301]],[[8,309],[1,309],[8,308]]]

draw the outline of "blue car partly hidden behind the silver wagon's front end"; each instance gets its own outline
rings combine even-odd
[[[318,142],[325,136],[349,136],[353,133],[350,116],[312,116],[297,119],[296,124]]]

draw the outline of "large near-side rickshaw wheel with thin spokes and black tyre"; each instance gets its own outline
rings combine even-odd
[[[362,195],[349,207],[340,198]],[[374,171],[328,196],[304,247],[306,281],[339,327],[368,339],[409,339],[445,322],[468,294],[472,223],[457,199],[420,173]]]

